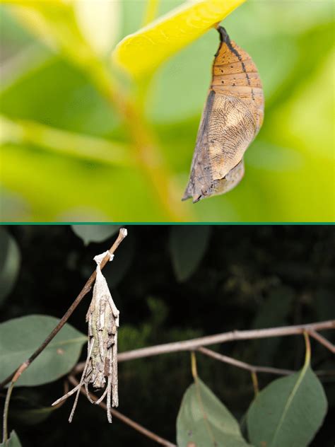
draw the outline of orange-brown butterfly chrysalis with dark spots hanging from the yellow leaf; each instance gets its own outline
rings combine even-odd
[[[224,194],[242,179],[243,155],[264,117],[264,95],[252,58],[217,28],[211,86],[196,137],[189,182],[183,200]]]

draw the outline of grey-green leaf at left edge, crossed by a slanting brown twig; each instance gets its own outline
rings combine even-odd
[[[28,315],[0,324],[0,381],[33,354],[57,323],[58,318],[48,315]],[[23,372],[17,385],[42,385],[64,376],[77,363],[86,341],[86,335],[66,323]]]

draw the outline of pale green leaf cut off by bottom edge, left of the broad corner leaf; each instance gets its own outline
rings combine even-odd
[[[235,417],[199,379],[189,386],[177,417],[178,447],[247,447]]]

